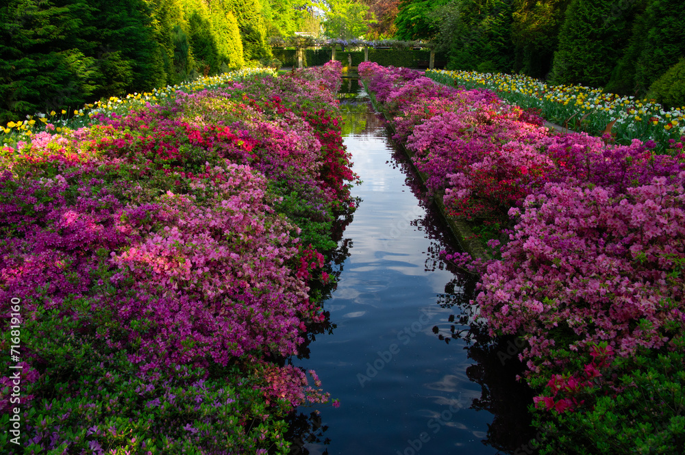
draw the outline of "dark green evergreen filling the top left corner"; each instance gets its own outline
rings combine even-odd
[[[92,94],[95,61],[71,47],[81,6],[10,0],[0,7],[0,121],[79,106]]]

